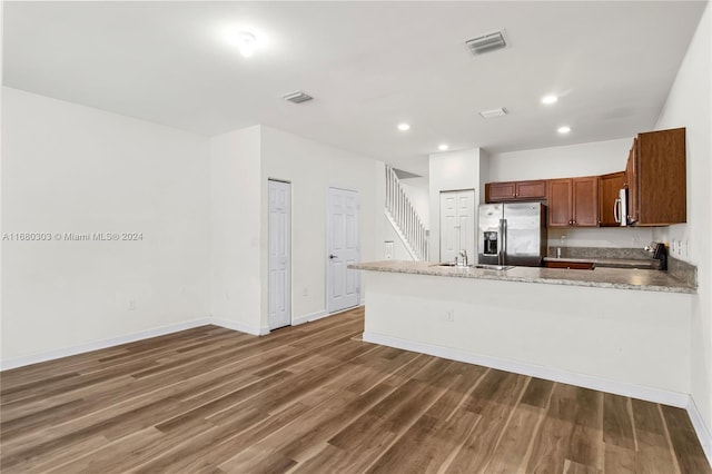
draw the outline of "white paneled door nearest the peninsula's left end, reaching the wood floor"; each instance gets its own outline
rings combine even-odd
[[[329,188],[327,198],[326,307],[329,313],[357,306],[360,299],[358,192]]]

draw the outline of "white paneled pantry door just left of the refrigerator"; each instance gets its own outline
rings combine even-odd
[[[454,261],[461,250],[475,261],[475,190],[441,192],[441,261]]]

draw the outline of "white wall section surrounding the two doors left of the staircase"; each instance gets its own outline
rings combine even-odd
[[[329,187],[358,191],[362,261],[384,258],[385,168],[379,161],[261,127],[261,213],[267,180],[291,182],[291,308],[304,322],[326,312],[326,198]],[[267,266],[267,221],[261,221],[261,265]],[[263,273],[261,324],[267,324],[267,277]]]

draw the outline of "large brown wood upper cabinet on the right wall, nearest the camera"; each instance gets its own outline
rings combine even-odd
[[[685,129],[639,134],[626,166],[629,221],[636,226],[685,223]]]

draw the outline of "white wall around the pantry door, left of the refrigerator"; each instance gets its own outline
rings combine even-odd
[[[481,192],[479,152],[479,148],[475,148],[429,156],[431,236],[428,243],[431,260],[439,259],[441,191],[474,189],[475,203],[481,203],[481,194],[484,194],[484,189]],[[476,245],[475,248],[477,248]]]

